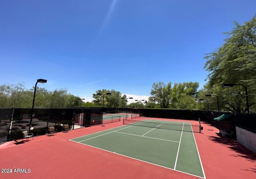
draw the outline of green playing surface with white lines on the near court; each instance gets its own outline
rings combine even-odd
[[[172,123],[176,129],[148,126],[154,122],[156,127]],[[132,125],[89,134],[71,141],[205,178],[190,123],[144,120],[130,124]]]

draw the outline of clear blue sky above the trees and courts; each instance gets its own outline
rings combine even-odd
[[[1,0],[0,85],[37,79],[90,101],[147,100],[154,82],[206,83],[205,54],[252,19],[255,0]],[[132,101],[130,101],[132,102]]]

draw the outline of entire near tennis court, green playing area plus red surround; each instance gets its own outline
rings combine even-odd
[[[256,154],[220,137],[211,124],[202,122],[200,134],[194,120],[136,120],[1,144],[2,169],[30,173],[0,173],[0,178],[255,179]]]

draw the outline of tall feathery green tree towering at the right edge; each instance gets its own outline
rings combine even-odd
[[[207,54],[204,58],[204,69],[209,72],[207,90],[219,89],[222,84],[242,84],[248,88],[249,106],[255,104],[256,90],[256,15],[252,20],[240,25],[234,22],[231,32],[226,32],[227,38],[224,44],[216,51]],[[246,101],[234,98],[230,93],[241,92],[245,99],[243,87],[236,86],[233,89],[220,89],[226,106],[229,110],[246,110]],[[251,110],[256,110],[255,105]]]

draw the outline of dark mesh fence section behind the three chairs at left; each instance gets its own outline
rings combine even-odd
[[[63,124],[73,125],[72,108],[35,108],[31,118],[31,108],[15,108],[10,140],[22,138],[22,131],[33,132],[34,136],[46,134],[48,127],[62,131]]]

